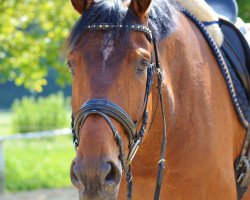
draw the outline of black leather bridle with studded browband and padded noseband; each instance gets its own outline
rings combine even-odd
[[[102,116],[106,122],[109,124],[113,134],[115,141],[117,143],[117,146],[119,148],[119,159],[122,164],[122,168],[126,174],[126,180],[127,180],[127,199],[132,199],[132,168],[131,163],[132,160],[141,145],[146,128],[148,125],[148,111],[147,111],[147,105],[148,105],[148,97],[151,92],[152,84],[153,84],[153,77],[154,77],[154,71],[157,73],[158,77],[158,99],[160,101],[161,105],[161,113],[163,118],[163,140],[162,140],[162,146],[161,146],[161,154],[160,154],[160,160],[158,162],[158,174],[157,174],[157,180],[156,180],[156,188],[155,188],[155,194],[154,194],[154,200],[158,200],[160,198],[160,191],[164,176],[164,170],[165,170],[165,155],[166,155],[166,120],[165,120],[165,114],[164,114],[164,106],[163,106],[163,97],[162,97],[162,72],[161,67],[158,59],[158,51],[156,46],[156,40],[153,36],[153,33],[151,30],[141,24],[136,25],[109,25],[109,24],[93,24],[85,27],[86,31],[92,31],[92,30],[112,30],[114,28],[118,29],[126,29],[129,31],[137,31],[141,32],[146,35],[147,39],[150,43],[153,43],[154,47],[154,58],[151,59],[151,63],[148,66],[147,69],[147,82],[146,82],[146,91],[144,96],[144,102],[143,102],[143,114],[141,117],[141,127],[138,129],[137,123],[134,123],[130,115],[122,109],[117,104],[107,100],[107,99],[91,99],[87,102],[85,102],[79,111],[77,112],[76,116],[74,117],[72,115],[72,133],[73,133],[73,143],[75,148],[77,149],[79,146],[79,140],[80,140],[80,129],[90,115],[96,114],[99,116]],[[129,154],[126,156],[124,152],[124,145],[122,138],[120,134],[118,133],[115,125],[111,121],[111,118],[115,119],[117,122],[119,122],[122,127],[125,129],[127,135],[128,135],[128,141],[129,141]],[[152,122],[151,122],[152,124]],[[137,130],[139,130],[137,132]]]

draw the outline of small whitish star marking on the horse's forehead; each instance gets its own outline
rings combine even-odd
[[[108,58],[111,56],[114,50],[114,40],[112,39],[112,33],[106,33],[102,43],[102,55],[103,55],[103,67],[105,68]]]

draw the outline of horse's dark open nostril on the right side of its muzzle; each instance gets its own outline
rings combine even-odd
[[[106,185],[118,184],[121,178],[118,167],[112,162],[108,162],[107,165],[109,171],[105,177],[104,184]]]

